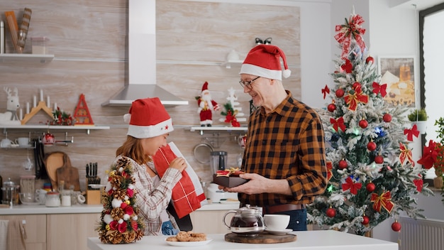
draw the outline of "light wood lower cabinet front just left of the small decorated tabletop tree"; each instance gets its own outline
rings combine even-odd
[[[95,231],[100,214],[47,214],[47,250],[88,249],[88,237],[99,237]]]

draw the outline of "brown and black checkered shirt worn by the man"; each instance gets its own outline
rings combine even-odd
[[[293,195],[270,190],[239,194],[241,204],[256,206],[309,204],[326,189],[325,141],[321,119],[314,109],[287,98],[270,114],[261,107],[248,121],[243,170],[270,179],[287,179]]]

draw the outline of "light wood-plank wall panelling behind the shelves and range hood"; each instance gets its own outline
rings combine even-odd
[[[126,0],[15,0],[1,1],[1,18],[4,11],[15,11],[21,21],[23,9],[33,10],[28,38],[46,36],[48,53],[55,58],[50,63],[0,62],[0,87],[18,87],[21,105],[32,105],[39,89],[51,102],[57,102],[66,112],[74,112],[79,94],[85,99],[92,119],[97,125],[111,126],[109,130],[68,131],[74,136],[69,146],[45,147],[45,152],[64,151],[72,165],[79,168],[82,190],[85,189],[84,166],[99,163],[99,176],[113,161],[116,148],[126,138],[123,114],[129,107],[102,107],[101,103],[118,92],[127,82],[127,14]],[[228,165],[235,165],[235,158],[242,149],[235,141],[239,134],[205,133],[189,131],[189,126],[199,124],[195,97],[200,94],[204,82],[216,102],[223,104],[227,89],[237,89],[238,102],[243,112],[249,112],[248,95],[238,84],[238,67],[227,69],[221,64],[231,50],[243,58],[254,46],[256,37],[272,37],[286,53],[292,76],[284,80],[296,98],[301,92],[300,73],[300,23],[299,8],[256,4],[207,3],[201,1],[157,1],[157,84],[189,101],[189,105],[168,107],[174,122],[174,141],[198,175],[211,180],[209,165],[197,163],[193,148],[205,137],[221,138],[217,150],[228,151]],[[6,53],[13,53],[9,29],[6,29]],[[30,53],[30,40],[26,41],[25,53]],[[0,89],[0,112],[6,109],[6,93]],[[46,101],[46,97],[45,97]],[[222,116],[214,114],[214,124]],[[39,113],[30,124],[45,124],[50,119]],[[35,137],[46,131],[32,131]],[[50,131],[56,138],[64,138],[65,131]],[[4,138],[5,134],[1,137]],[[28,136],[28,131],[8,129],[9,138]],[[28,157],[26,150],[0,149],[0,175],[16,183],[21,175],[29,175],[21,164]],[[33,151],[29,151],[33,159]],[[45,180],[38,180],[38,185]]]

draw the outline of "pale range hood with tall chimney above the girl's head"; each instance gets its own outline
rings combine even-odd
[[[166,107],[188,104],[156,85],[155,12],[155,0],[128,1],[128,84],[102,106],[128,106],[147,97],[159,97]]]

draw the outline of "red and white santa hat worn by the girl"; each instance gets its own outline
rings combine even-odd
[[[123,119],[130,123],[128,136],[151,138],[173,131],[172,119],[157,97],[137,99]]]

